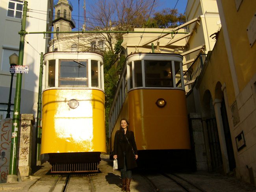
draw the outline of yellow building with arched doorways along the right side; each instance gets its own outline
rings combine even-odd
[[[222,27],[187,95],[197,103],[198,94],[201,111],[191,104],[189,112],[202,114],[209,170],[220,168],[255,185],[256,0],[217,0],[217,5]]]

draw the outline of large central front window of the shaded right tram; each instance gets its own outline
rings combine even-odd
[[[146,87],[173,87],[171,61],[144,61]]]

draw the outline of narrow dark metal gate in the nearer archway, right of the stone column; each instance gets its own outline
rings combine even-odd
[[[234,150],[232,146],[232,138],[230,134],[229,124],[228,124],[228,116],[226,112],[226,106],[224,99],[221,102],[221,116],[222,116],[222,122],[223,122],[223,129],[224,129],[224,135],[225,135],[225,141],[226,141],[226,148],[228,153],[228,163],[229,163],[229,170],[233,171],[234,168],[236,168],[236,161],[234,157]]]

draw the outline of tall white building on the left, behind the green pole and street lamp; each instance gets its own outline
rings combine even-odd
[[[52,21],[53,0],[27,0],[26,31],[49,31]],[[6,118],[11,74],[9,56],[19,55],[21,15],[24,0],[1,0],[0,3],[0,120]],[[20,113],[36,116],[39,84],[40,53],[47,52],[48,39],[43,34],[25,36],[23,65],[29,66],[28,74],[22,75]],[[13,77],[11,103],[14,103],[16,75]],[[13,110],[13,105],[11,107]],[[12,118],[12,113],[11,113]]]

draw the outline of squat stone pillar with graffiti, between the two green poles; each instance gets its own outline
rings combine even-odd
[[[33,114],[21,114],[21,124],[19,131],[20,140],[18,146],[18,168],[21,177],[28,177],[29,175],[32,174],[32,131],[34,124],[35,118]]]

